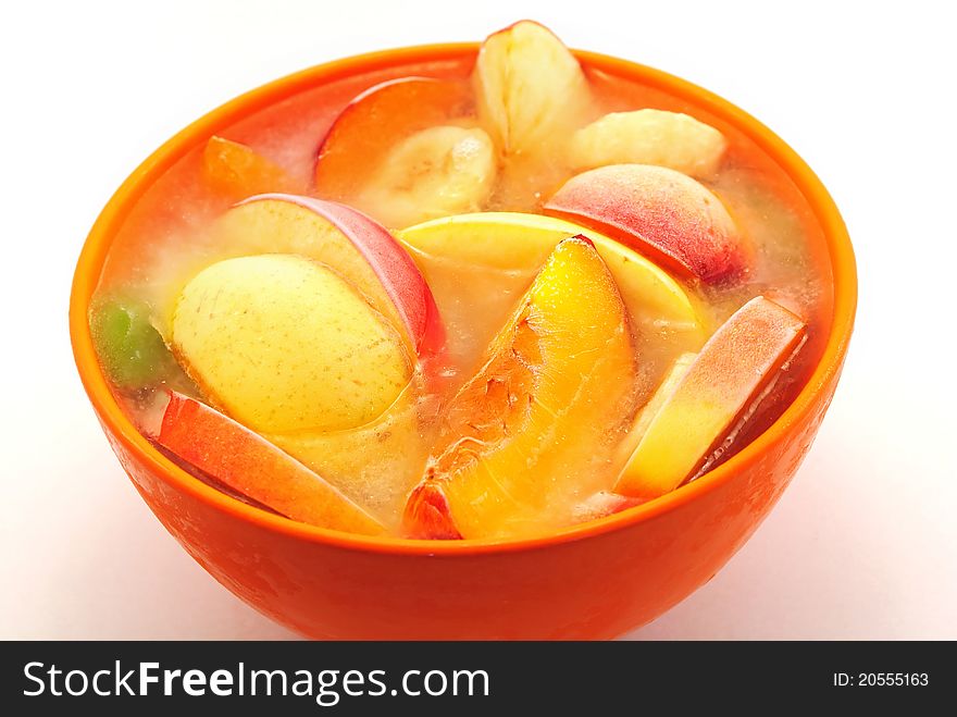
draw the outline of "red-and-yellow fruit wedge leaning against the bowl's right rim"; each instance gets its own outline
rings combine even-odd
[[[805,338],[804,322],[787,309],[761,296],[745,304],[661,401],[614,491],[652,498],[708,470]]]

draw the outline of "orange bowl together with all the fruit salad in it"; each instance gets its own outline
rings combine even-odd
[[[545,634],[527,601],[554,574],[506,589],[514,609],[484,627],[461,626],[498,579],[461,620],[405,630],[341,591],[421,598],[456,560],[497,555],[514,574],[617,532],[663,579],[689,548],[619,528],[750,470],[723,507],[726,491],[697,500],[698,540],[722,510],[728,526],[678,584],[636,590],[624,571],[634,605],[580,633],[574,609],[600,599],[546,610],[556,636],[614,633],[699,584],[786,485],[846,348],[849,245],[780,140],[680,81],[533,22],[426,50],[281,81],[148,161],[80,260],[80,372],[171,532],[308,634]],[[303,577],[357,554],[394,567]],[[258,585],[253,564],[278,572]],[[428,594],[444,591],[461,588]]]

